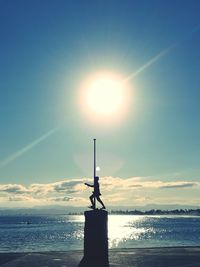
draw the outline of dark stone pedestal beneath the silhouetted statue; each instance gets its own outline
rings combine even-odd
[[[85,211],[84,257],[79,267],[109,267],[107,223],[107,211]]]

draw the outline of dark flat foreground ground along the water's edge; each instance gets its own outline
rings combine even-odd
[[[0,253],[5,267],[77,267],[82,251]],[[200,267],[200,247],[116,249],[110,267]],[[95,266],[94,266],[95,267]]]

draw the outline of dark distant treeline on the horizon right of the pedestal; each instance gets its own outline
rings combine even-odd
[[[110,214],[119,215],[195,215],[200,216],[200,209],[175,209],[175,210],[111,210]]]

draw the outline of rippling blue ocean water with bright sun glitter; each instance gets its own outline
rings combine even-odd
[[[0,252],[83,249],[84,216],[0,216]],[[200,217],[109,215],[110,248],[200,246]]]

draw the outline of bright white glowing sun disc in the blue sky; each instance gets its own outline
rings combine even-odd
[[[90,118],[114,120],[124,114],[129,102],[127,85],[116,75],[100,74],[88,79],[80,97],[83,111]]]

